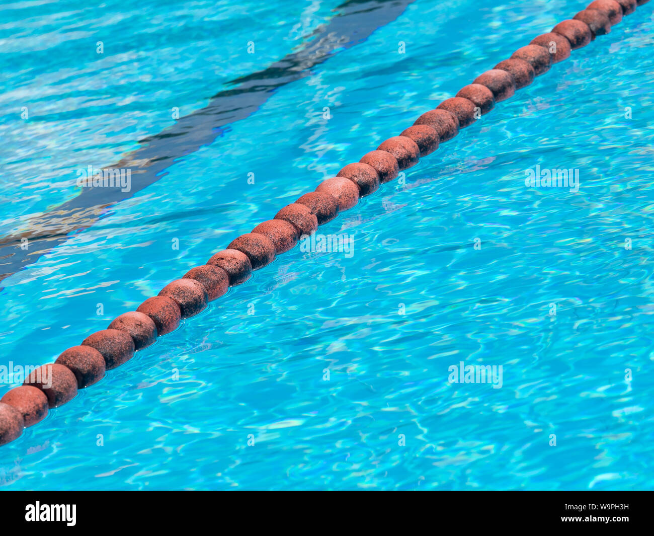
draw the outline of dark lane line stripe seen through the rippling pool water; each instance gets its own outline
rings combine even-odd
[[[0,281],[37,262],[41,255],[103,217],[109,208],[128,199],[167,174],[167,168],[186,154],[210,145],[226,126],[255,113],[279,88],[311,75],[310,69],[340,50],[366,41],[379,27],[394,21],[413,0],[349,0],[334,9],[328,24],[307,37],[309,42],[263,71],[228,82],[233,86],[209,104],[183,116],[156,135],[139,141],[139,149],[106,169],[131,170],[131,189],[83,187],[72,200],[27,222],[27,230],[0,239]],[[21,240],[28,247],[22,249]],[[1,290],[1,289],[0,289]]]

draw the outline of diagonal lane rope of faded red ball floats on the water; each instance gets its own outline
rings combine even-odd
[[[150,346],[158,336],[174,331],[181,319],[197,315],[228,287],[245,283],[252,270],[270,264],[292,249],[298,240],[315,233],[319,225],[353,208],[359,198],[373,194],[381,183],[415,166],[422,156],[458,134],[495,103],[547,72],[552,63],[570,57],[596,36],[611,31],[623,16],[649,0],[594,0],[572,19],[532,39],[510,58],[482,73],[455,97],[422,114],[402,134],[381,143],[359,162],[347,164],[336,177],[322,181],[313,192],[283,207],[273,219],[233,240],[206,264],[172,281],[136,311],[123,313],[107,329],[86,337],[80,346],[65,350],[54,363],[43,365],[0,399],[0,445],[22,435],[25,427],[43,420],[52,408],[71,401],[78,389],[93,385]]]

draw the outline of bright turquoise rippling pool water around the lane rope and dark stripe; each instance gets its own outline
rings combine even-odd
[[[7,277],[0,364],[51,363],[583,8],[453,4],[411,3]],[[651,489],[651,5],[320,227],[353,255],[280,255],[1,447],[0,489]],[[0,234],[336,6],[3,6]],[[579,191],[526,188],[537,165]],[[449,384],[461,361],[502,388]]]

